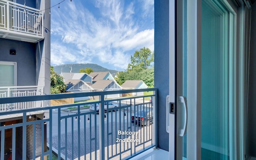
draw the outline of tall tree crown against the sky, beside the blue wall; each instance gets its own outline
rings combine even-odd
[[[154,62],[154,52],[149,48],[140,48],[136,50],[131,56],[131,63],[128,64],[128,70],[143,70],[149,68],[150,64]]]

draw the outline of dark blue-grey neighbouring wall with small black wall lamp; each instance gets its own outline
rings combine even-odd
[[[0,61],[17,62],[17,86],[35,86],[35,44],[0,38],[0,46]],[[16,50],[16,55],[10,55],[10,49]]]

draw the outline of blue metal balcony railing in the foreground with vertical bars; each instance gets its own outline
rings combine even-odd
[[[109,94],[149,91],[152,94],[104,99]],[[148,88],[0,98],[0,104],[42,100],[46,104],[0,112],[0,159],[51,159],[53,152],[58,160],[132,158],[156,144],[156,91]],[[89,96],[99,99],[48,106],[49,100]]]

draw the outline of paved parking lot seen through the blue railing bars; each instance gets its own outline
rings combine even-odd
[[[126,103],[121,104],[121,106],[127,106]],[[106,118],[104,120],[104,137],[105,142],[104,145],[109,157],[114,157],[114,155],[118,154],[120,150],[122,152],[127,150],[127,153],[130,153],[131,148],[134,148],[132,152],[135,151],[136,146],[138,145],[137,149],[140,148],[139,144],[144,144],[147,140],[152,140],[152,128],[153,125],[150,126],[140,126],[131,123],[131,115],[134,114],[135,110],[140,110],[141,106],[128,105],[128,108],[118,109],[116,112],[105,112]],[[143,108],[143,106],[142,106]],[[60,120],[60,142],[62,158],[67,154],[68,159],[75,159],[78,157],[78,149],[80,149],[80,153],[84,153],[84,155],[92,156],[91,153],[97,153],[99,150],[99,122],[100,122],[100,115],[99,114],[92,114],[89,109],[80,110],[81,115],[80,117],[77,116],[77,111],[71,112],[64,112],[61,111],[61,116],[72,115],[72,118],[63,118]],[[90,113],[90,114],[89,114]],[[125,114],[124,114],[125,113]],[[125,116],[124,116],[125,115]],[[88,121],[89,117],[89,121]],[[49,131],[47,129],[47,137],[49,137],[49,132],[52,132],[52,147],[58,148],[58,111],[53,111],[52,114],[52,130]],[[78,130],[78,121],[80,123],[80,127]],[[49,122],[47,125],[49,128]],[[139,132],[138,135],[118,135],[118,130],[121,131],[137,131]],[[80,141],[78,142],[78,139]],[[128,140],[134,139],[139,140],[140,142],[117,142],[117,140]],[[49,139],[47,139],[49,142]],[[129,145],[129,143],[133,143],[133,147]],[[78,147],[80,144],[80,148]],[[136,145],[134,145],[136,144]],[[151,144],[151,143],[150,143]],[[119,148],[117,146],[122,146]],[[147,144],[149,145],[149,144]],[[130,147],[130,149],[129,149]],[[53,149],[54,150],[54,149]],[[114,152],[113,152],[114,151]],[[55,151],[56,152],[56,151]],[[73,155],[71,154],[73,152]],[[80,155],[80,157],[84,156]],[[94,155],[95,156],[95,155]],[[124,155],[123,155],[124,156]],[[92,158],[94,159],[94,158]]]

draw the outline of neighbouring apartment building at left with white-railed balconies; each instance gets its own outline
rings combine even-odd
[[[0,97],[50,94],[50,0],[0,0]],[[47,12],[47,13],[46,13]],[[48,102],[46,102],[48,103]],[[0,104],[0,112],[44,107],[44,101]],[[27,121],[43,119],[44,114],[27,113]],[[1,126],[22,122],[22,114],[0,116]],[[42,125],[27,127],[27,158],[42,153]],[[46,131],[46,129],[44,130]],[[22,156],[22,129],[16,129],[16,157]],[[36,134],[36,139],[30,137]],[[4,153],[12,148],[13,132],[5,130]],[[1,137],[3,138],[3,137]],[[23,137],[24,138],[24,137]],[[3,140],[3,139],[2,139]],[[14,152],[14,151],[13,151]],[[3,153],[3,152],[1,152]]]

